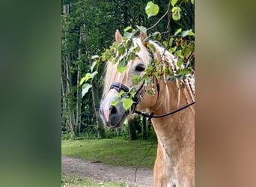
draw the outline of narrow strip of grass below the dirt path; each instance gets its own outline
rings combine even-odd
[[[131,187],[125,183],[118,182],[95,182],[93,180],[81,179],[78,177],[61,176],[61,186],[63,187]]]

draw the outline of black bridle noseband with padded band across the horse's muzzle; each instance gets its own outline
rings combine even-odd
[[[121,84],[120,82],[114,82],[110,88],[111,89],[115,89],[118,92],[124,91],[124,93],[127,93],[127,96],[130,96],[129,93],[129,88],[127,88],[127,86]],[[132,96],[132,107],[131,107],[131,113],[133,114],[135,112],[135,109],[138,105],[138,102],[140,102],[142,95],[144,94],[144,82],[142,83],[141,87],[138,88],[138,91],[136,91],[135,96]]]

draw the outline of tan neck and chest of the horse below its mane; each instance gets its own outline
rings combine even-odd
[[[162,85],[162,88],[165,86],[171,89],[168,89],[169,92],[165,89],[160,90],[159,102],[157,102],[159,105],[152,111],[154,114],[166,114],[193,100],[183,90],[186,88],[177,88],[175,82],[167,84]],[[168,94],[170,99],[166,99],[165,94]],[[167,100],[169,103],[166,103]],[[168,117],[152,119],[158,138],[154,180],[159,184],[155,183],[155,186],[171,186],[172,183],[176,186],[193,186],[195,175],[194,118],[194,109],[189,107]],[[161,179],[157,180],[159,177]]]

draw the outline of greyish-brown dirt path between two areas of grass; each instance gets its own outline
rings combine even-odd
[[[153,186],[152,170],[139,168],[135,183],[134,168],[104,165],[67,156],[61,156],[61,172],[68,176],[90,178],[91,180],[120,181],[141,187]]]

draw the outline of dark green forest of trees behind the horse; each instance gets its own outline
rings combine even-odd
[[[117,29],[124,34],[127,27],[147,28],[147,34],[157,37],[174,54],[181,50],[178,50],[181,38],[192,31],[189,44],[193,44],[193,49],[189,56],[194,55],[194,1],[63,0],[61,3],[62,138],[156,138],[150,121],[144,117],[135,117],[119,129],[104,128],[98,112],[104,62],[93,72],[94,57],[112,45]],[[86,85],[90,86],[85,88],[85,84],[79,83],[86,76],[90,82]]]

